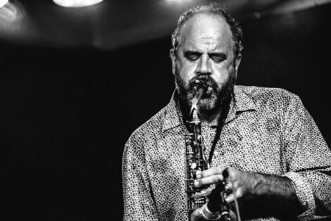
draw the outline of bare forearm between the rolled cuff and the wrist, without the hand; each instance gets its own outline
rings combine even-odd
[[[251,183],[239,199],[242,217],[296,217],[303,212],[291,180],[287,177],[244,173]]]

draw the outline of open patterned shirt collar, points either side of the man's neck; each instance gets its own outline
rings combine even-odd
[[[163,132],[166,130],[173,129],[180,125],[184,125],[182,120],[182,113],[180,111],[179,105],[177,103],[178,94],[175,90],[173,96],[170,99],[170,103],[165,107],[165,118],[163,121]],[[227,114],[227,119],[225,123],[233,120],[237,115],[244,111],[249,110],[257,110],[256,104],[253,99],[249,96],[249,94],[244,91],[243,86],[234,87],[234,98],[232,98],[230,102],[230,110]],[[218,120],[214,120],[213,122],[208,124],[211,127],[216,127],[218,125]]]

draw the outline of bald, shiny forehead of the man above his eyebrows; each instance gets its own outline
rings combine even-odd
[[[199,47],[232,49],[230,26],[220,15],[198,13],[193,15],[182,28],[180,45],[190,49]]]

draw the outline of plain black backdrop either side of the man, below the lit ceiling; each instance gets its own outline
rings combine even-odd
[[[329,146],[330,12],[242,20],[237,81],[298,94]],[[170,32],[112,50],[1,39],[1,220],[122,219],[123,147],[170,100],[169,49]]]

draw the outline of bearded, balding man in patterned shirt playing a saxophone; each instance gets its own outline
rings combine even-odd
[[[294,94],[234,86],[241,51],[242,30],[224,6],[196,6],[180,17],[170,51],[173,98],[125,145],[125,220],[187,220],[184,134],[196,80],[207,85],[199,111],[211,159],[210,169],[196,172],[201,195],[210,196],[211,184],[228,182],[225,200],[238,199],[242,220],[330,215],[330,149]]]

